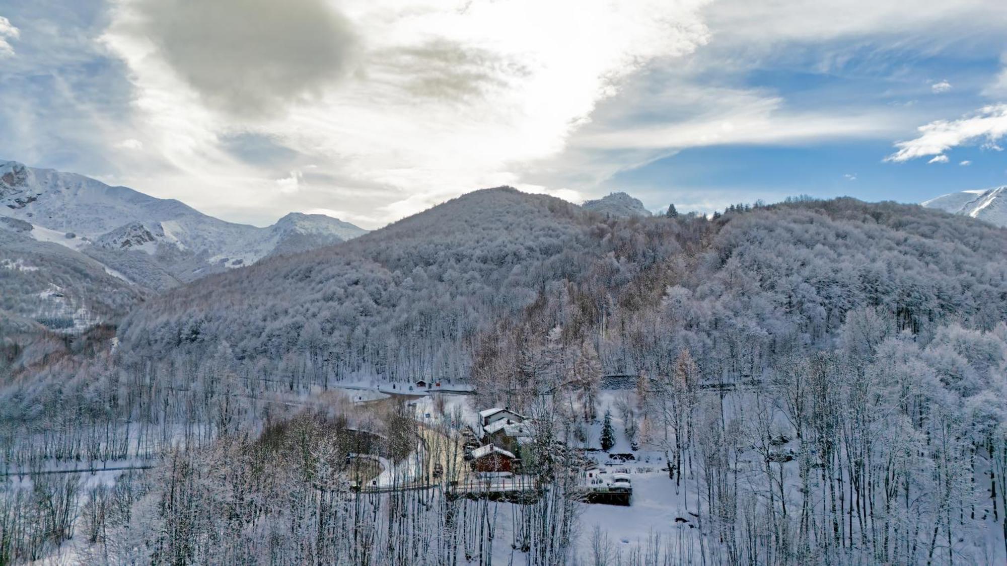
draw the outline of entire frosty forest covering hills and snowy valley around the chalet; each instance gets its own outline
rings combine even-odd
[[[1005,250],[891,202],[620,218],[501,187],[110,288],[90,332],[0,341],[0,564],[1004,563]],[[419,380],[473,394],[357,393]],[[455,497],[494,406],[534,423],[534,502]],[[605,443],[655,455],[679,525],[584,512]]]

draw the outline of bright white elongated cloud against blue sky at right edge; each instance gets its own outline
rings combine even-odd
[[[996,146],[1007,135],[1007,104],[991,105],[958,120],[938,120],[917,128],[919,136],[895,143],[898,151],[885,161],[908,161],[917,157],[942,155],[953,147],[975,145],[983,140],[984,147]]]

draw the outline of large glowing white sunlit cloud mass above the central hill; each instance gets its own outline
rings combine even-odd
[[[191,21],[166,22],[155,3],[120,2],[103,39],[132,73],[137,127],[146,135],[133,137],[164,156],[178,177],[194,176],[219,191],[243,186],[245,204],[262,206],[289,195],[293,183],[285,180],[277,190],[263,167],[224,151],[221,139],[266,134],[318,163],[316,174],[338,175],[358,197],[368,198],[368,187],[383,187],[386,201],[377,216],[394,220],[475,187],[520,184],[516,167],[561,152],[571,132],[625,78],[707,39],[697,15],[703,2],[693,0],[319,2],[298,0],[295,8],[331,10],[337,22],[332,33],[351,33],[353,39],[343,41],[347,52],[333,55],[339,76],[300,90],[272,89],[250,101],[219,82],[207,87],[191,79],[206,76],[213,64],[193,55],[198,47],[187,46],[182,56],[164,47],[179,36],[212,37],[212,29],[226,24],[220,10],[202,14],[179,0],[185,9],[172,14]],[[233,17],[227,24],[239,28],[233,34],[250,35],[265,25],[255,13],[236,10]],[[263,40],[283,44],[304,25],[291,17],[281,23],[286,36]],[[322,32],[311,26],[312,33]],[[206,45],[210,59],[213,45]],[[247,59],[229,53],[228,64],[249,65],[230,72],[236,81],[254,86],[268,79],[249,77],[260,68],[269,73],[267,47]],[[276,55],[276,66],[289,55]],[[265,97],[270,113],[259,112]],[[262,182],[253,180],[260,177]],[[311,182],[298,179],[297,186]],[[193,186],[183,197],[198,205],[206,195],[200,192]],[[576,197],[570,190],[563,194]]]

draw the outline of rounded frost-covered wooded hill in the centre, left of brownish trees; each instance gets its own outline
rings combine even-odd
[[[338,343],[329,361],[340,373],[436,367],[461,376],[464,343],[485,319],[524,307],[539,285],[587,261],[591,226],[558,198],[476,191],[340,246],[174,289],[133,313],[121,334],[130,347],[165,353],[228,336],[245,359],[314,359]]]

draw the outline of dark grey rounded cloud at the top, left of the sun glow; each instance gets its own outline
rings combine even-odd
[[[324,0],[145,0],[146,34],[205,100],[232,115],[276,114],[339,80],[355,51]]]

